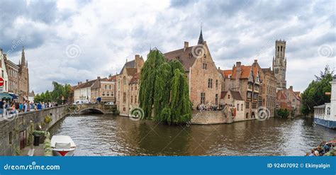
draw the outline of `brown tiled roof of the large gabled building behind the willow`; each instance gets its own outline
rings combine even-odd
[[[164,54],[167,60],[179,60],[184,67],[185,72],[189,72],[189,68],[194,64],[196,57],[191,53],[194,46],[186,47],[186,49],[181,48],[179,50],[174,50],[172,52],[167,52]]]

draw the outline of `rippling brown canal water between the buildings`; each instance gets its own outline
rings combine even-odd
[[[223,125],[167,126],[113,115],[68,116],[50,129],[69,135],[77,156],[305,155],[336,130],[312,120],[270,118]]]

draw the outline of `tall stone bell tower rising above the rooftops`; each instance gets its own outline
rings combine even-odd
[[[276,90],[286,89],[286,67],[287,58],[285,57],[286,41],[275,41],[275,55],[273,57],[273,71],[276,77]]]

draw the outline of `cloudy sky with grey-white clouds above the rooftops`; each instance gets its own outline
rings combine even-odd
[[[120,72],[150,47],[177,50],[203,37],[217,67],[237,61],[271,67],[286,40],[287,85],[303,91],[326,64],[336,67],[335,1],[11,1],[1,0],[0,47],[18,63],[22,46],[30,90]]]

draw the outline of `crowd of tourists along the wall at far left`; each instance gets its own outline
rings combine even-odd
[[[14,114],[14,113],[24,113],[29,111],[37,111],[42,110],[44,108],[50,108],[53,106],[57,106],[57,103],[50,102],[40,102],[33,103],[30,101],[24,101],[18,103],[17,101],[6,101],[5,99],[1,99],[0,101],[0,113],[4,114]]]

